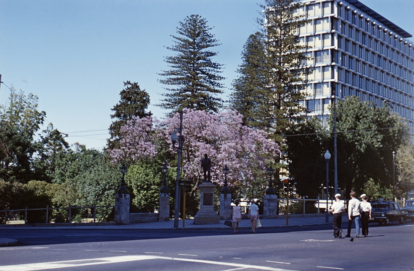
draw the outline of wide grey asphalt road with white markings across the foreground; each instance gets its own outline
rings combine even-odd
[[[0,229],[3,270],[413,270],[414,223],[334,239],[326,226],[241,230]],[[345,227],[344,227],[345,228]],[[355,230],[352,235],[355,236]]]

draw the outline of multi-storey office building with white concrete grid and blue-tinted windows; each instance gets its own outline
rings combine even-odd
[[[314,67],[303,101],[324,123],[335,99],[356,95],[377,106],[387,102],[414,127],[414,46],[409,33],[357,0],[303,0],[309,23],[300,43]],[[401,7],[402,8],[402,7]]]

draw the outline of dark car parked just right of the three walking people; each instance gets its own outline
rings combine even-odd
[[[407,211],[401,210],[396,202],[375,202],[371,203],[372,214],[369,222],[376,222],[380,225],[388,225],[391,221],[404,222]]]

